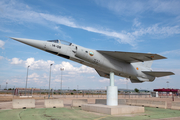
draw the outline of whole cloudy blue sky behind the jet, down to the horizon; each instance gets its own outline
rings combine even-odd
[[[168,59],[154,61],[153,70],[176,75],[154,82],[133,84],[115,77],[118,88],[170,88],[180,85],[180,1],[179,0],[1,0],[0,1],[0,85],[48,88],[105,89],[109,80],[92,68],[27,46],[8,37],[37,40],[62,39],[97,50],[158,53]]]

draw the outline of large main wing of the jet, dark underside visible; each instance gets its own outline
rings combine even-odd
[[[151,54],[151,53],[101,51],[101,50],[97,50],[97,51],[101,54],[105,54],[105,55],[111,56],[113,58],[116,58],[116,59],[119,59],[121,61],[125,61],[128,63],[166,59],[166,57],[163,57],[158,54]]]

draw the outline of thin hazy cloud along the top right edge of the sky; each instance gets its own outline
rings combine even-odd
[[[149,0],[96,0],[96,3],[120,15],[139,15],[147,11],[156,13],[180,14],[180,1]]]

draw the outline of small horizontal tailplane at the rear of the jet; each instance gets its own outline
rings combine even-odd
[[[167,72],[167,71],[142,71],[145,74],[154,76],[154,77],[163,77],[168,75],[174,75],[173,72]]]

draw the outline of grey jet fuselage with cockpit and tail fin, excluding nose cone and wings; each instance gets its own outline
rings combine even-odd
[[[54,43],[47,41],[44,45],[44,50],[57,56],[92,67],[98,71],[102,71],[105,73],[103,77],[109,78],[109,73],[114,72],[117,76],[135,80],[137,77],[141,77],[145,81],[153,81],[155,79],[155,77],[141,72],[141,70],[149,71],[150,69],[148,68],[138,66],[136,63],[119,61],[111,56],[101,54],[96,50],[84,48],[76,44],[69,43],[65,45],[59,42]]]

